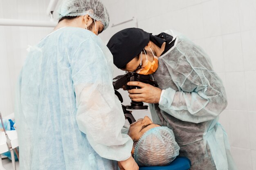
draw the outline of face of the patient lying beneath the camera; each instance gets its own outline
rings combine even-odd
[[[138,119],[133,124],[130,124],[128,135],[133,141],[137,141],[146,131],[158,126],[160,125],[153,124],[150,118],[145,116],[144,119]]]

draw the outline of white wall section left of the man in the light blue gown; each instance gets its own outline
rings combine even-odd
[[[45,20],[49,0],[0,0],[0,18]],[[16,82],[27,54],[53,28],[0,26],[0,111],[6,116],[14,111]]]

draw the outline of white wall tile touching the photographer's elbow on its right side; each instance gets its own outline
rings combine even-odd
[[[243,72],[226,73],[227,109],[247,110],[245,76]]]

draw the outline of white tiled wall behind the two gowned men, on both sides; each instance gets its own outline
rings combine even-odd
[[[220,122],[229,135],[239,170],[256,170],[256,0],[103,0],[110,13],[104,42],[117,31],[135,27],[157,34],[184,33],[210,55],[226,87],[228,106]],[[49,0],[0,0],[0,18],[49,20]],[[52,28],[0,26],[0,110],[13,112],[16,79],[26,56]],[[115,75],[122,72],[115,72]],[[126,95],[126,94],[123,94]],[[123,96],[124,97],[124,96]],[[125,98],[125,97],[124,97]],[[129,99],[125,99],[126,103]],[[145,113],[135,113],[143,117]]]

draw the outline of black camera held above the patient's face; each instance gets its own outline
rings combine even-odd
[[[124,75],[119,75],[113,79],[113,86],[115,90],[118,90],[119,88],[126,86],[127,90],[140,88],[138,86],[128,86],[128,82],[142,82],[146,84],[150,84],[152,86],[157,87],[157,82],[154,82],[150,79],[150,75],[141,75],[136,72],[130,72],[126,73]],[[132,101],[130,105],[126,106],[126,110],[133,111],[133,110],[148,110],[148,106],[144,105],[143,102],[135,102]]]

